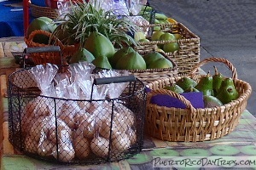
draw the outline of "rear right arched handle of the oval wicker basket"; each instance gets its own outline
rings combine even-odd
[[[198,71],[198,69],[202,66],[205,65],[209,62],[219,62],[219,63],[224,63],[229,69],[230,71],[232,71],[232,78],[233,79],[237,79],[237,72],[236,72],[236,68],[234,65],[232,65],[232,63],[230,63],[229,60],[224,59],[224,58],[218,58],[218,57],[212,57],[212,58],[207,58],[207,59],[203,59],[201,60],[199,63],[197,63],[191,70],[190,76],[192,78],[195,77],[195,73],[196,71]]]

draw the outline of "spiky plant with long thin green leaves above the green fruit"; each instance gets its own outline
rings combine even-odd
[[[119,18],[112,10],[105,11],[101,3],[77,2],[71,3],[70,12],[56,22],[61,25],[61,31],[68,32],[68,37],[73,37],[75,42],[84,45],[90,32],[98,31],[113,42],[115,46],[137,45],[133,37],[127,32],[136,32],[140,28],[127,17]],[[54,32],[55,35],[58,31]]]

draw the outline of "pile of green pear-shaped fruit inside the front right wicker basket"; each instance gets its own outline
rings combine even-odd
[[[216,67],[215,74],[213,76],[208,72],[207,75],[200,78],[199,82],[195,82],[195,80],[190,77],[182,77],[178,79],[177,82],[166,85],[164,89],[172,90],[177,94],[189,94],[188,96],[190,97],[187,99],[189,99],[191,104],[199,104],[194,105],[195,108],[221,106],[232,100],[236,100],[239,97],[233,79],[230,77],[224,77],[220,72],[218,72]],[[155,101],[152,100],[151,102],[154,103]],[[172,103],[174,100],[170,98],[170,101],[168,102]],[[175,107],[175,105],[172,106]]]

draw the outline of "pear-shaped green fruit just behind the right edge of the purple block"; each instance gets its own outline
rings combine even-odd
[[[213,95],[212,77],[209,72],[207,73],[207,76],[201,77],[195,88],[201,91],[204,95]]]

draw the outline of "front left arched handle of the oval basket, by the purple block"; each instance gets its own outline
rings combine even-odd
[[[183,104],[185,104],[186,108],[189,109],[190,113],[191,113],[191,116],[195,116],[195,107],[191,104],[191,102],[186,99],[185,97],[183,97],[182,95],[180,94],[177,94],[175,92],[172,92],[172,90],[166,90],[166,89],[156,89],[156,90],[153,90],[151,92],[148,93],[148,96],[147,96],[147,105],[150,103],[150,99],[154,96],[154,95],[157,95],[157,94],[167,94],[167,95],[170,95],[174,98],[177,98],[179,99],[180,101],[183,102]]]

